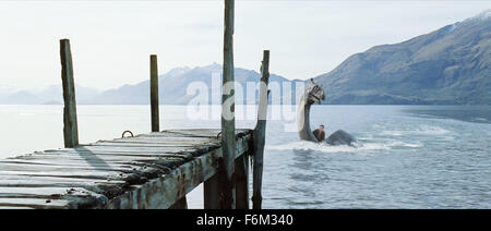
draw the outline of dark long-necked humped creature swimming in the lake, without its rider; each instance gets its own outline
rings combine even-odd
[[[310,129],[310,107],[325,99],[322,85],[318,85],[311,80],[311,84],[306,88],[303,96],[300,98],[297,110],[297,127],[300,139],[309,142],[319,142]],[[354,146],[356,138],[343,130],[338,130],[331,134],[325,141],[328,145],[349,145]]]

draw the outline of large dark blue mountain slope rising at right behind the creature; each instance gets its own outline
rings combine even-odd
[[[491,105],[491,10],[356,53],[315,80],[327,104]]]

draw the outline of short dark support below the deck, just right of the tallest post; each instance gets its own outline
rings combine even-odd
[[[249,155],[236,159],[236,208],[249,209]]]

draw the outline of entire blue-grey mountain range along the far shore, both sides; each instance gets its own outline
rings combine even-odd
[[[220,104],[220,72],[221,65],[214,63],[177,68],[160,75],[160,104],[185,105],[196,98],[200,104]],[[217,81],[213,73],[218,73]],[[258,97],[248,98],[248,83],[256,84],[260,76],[258,71],[236,68],[236,82],[243,89],[236,93],[237,104],[258,104]],[[491,10],[399,44],[352,54],[314,80],[326,93],[324,104],[491,105]],[[206,94],[188,94],[193,82],[200,82],[194,86],[207,86]],[[296,90],[284,89],[284,84],[295,86],[302,81],[272,74],[270,82],[271,102],[289,104],[287,96],[295,98]],[[61,84],[35,92],[5,88],[0,85],[0,105],[62,102]],[[77,104],[149,104],[149,81],[104,92],[76,85],[75,90]]]

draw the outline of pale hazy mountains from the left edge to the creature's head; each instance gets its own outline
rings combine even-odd
[[[212,83],[212,75],[216,73],[216,81]],[[236,88],[236,104],[258,104],[258,90],[249,93],[248,90],[255,89],[251,85],[256,85],[261,75],[256,71],[236,68],[235,78],[240,88]],[[188,105],[192,99],[199,98],[197,94],[188,94],[188,87],[192,86],[193,82],[199,82],[204,86],[207,99],[201,99],[201,104],[212,105],[221,104],[221,65],[211,64],[206,66],[177,68],[164,75],[159,76],[159,102],[163,105]],[[284,83],[288,85],[301,81],[289,81],[279,75],[271,74],[270,88],[271,104],[282,104],[288,97],[284,97]],[[194,85],[196,86],[196,85]],[[240,93],[242,92],[242,93]],[[118,88],[99,92],[93,88],[75,86],[76,102],[79,105],[148,105],[149,104],[149,81],[143,81],[134,85],[123,85]],[[285,90],[286,94],[291,94],[295,98],[295,85],[292,90]],[[242,97],[240,97],[242,95]],[[291,99],[290,98],[290,99]],[[60,85],[52,85],[41,90],[21,90],[7,92],[0,90],[0,105],[58,105],[62,104],[62,87]],[[288,101],[288,104],[291,101]]]

